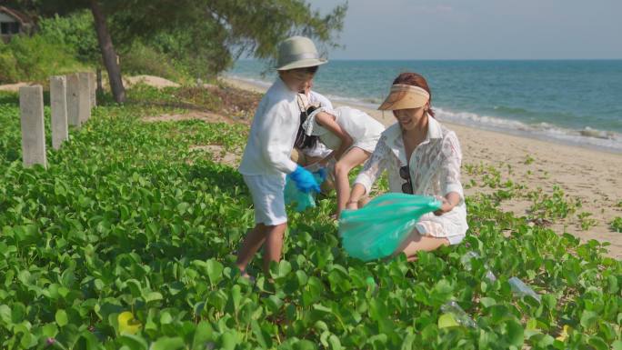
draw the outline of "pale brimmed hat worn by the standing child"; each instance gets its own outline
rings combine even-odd
[[[286,71],[289,69],[306,68],[328,63],[320,58],[316,45],[305,36],[292,36],[284,40],[278,46],[278,61],[276,70]]]

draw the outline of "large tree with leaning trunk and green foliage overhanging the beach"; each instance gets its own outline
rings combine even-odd
[[[89,9],[115,100],[125,100],[115,45],[140,39],[221,72],[241,55],[274,60],[278,42],[306,35],[336,46],[347,3],[322,15],[306,0],[14,0],[40,15]],[[114,40],[113,40],[114,39]],[[115,45],[113,45],[115,42]],[[205,69],[204,69],[205,71]],[[201,73],[201,69],[197,69]]]

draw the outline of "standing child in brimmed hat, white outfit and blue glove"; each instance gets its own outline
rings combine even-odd
[[[316,74],[320,59],[316,45],[303,36],[293,36],[279,46],[279,77],[257,106],[248,143],[239,167],[253,197],[256,226],[237,255],[236,265],[248,277],[246,265],[264,245],[264,271],[281,258],[287,228],[284,199],[286,175],[305,192],[319,192],[313,175],[290,159],[301,110],[297,92],[304,91]]]

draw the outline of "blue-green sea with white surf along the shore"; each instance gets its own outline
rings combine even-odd
[[[622,154],[622,60],[332,60],[314,90],[376,108],[402,72],[424,75],[440,121]],[[264,61],[227,76],[270,85]]]

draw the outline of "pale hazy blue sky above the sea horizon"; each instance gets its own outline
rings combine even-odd
[[[343,0],[308,0],[326,13]],[[622,0],[350,0],[332,59],[622,58]]]

